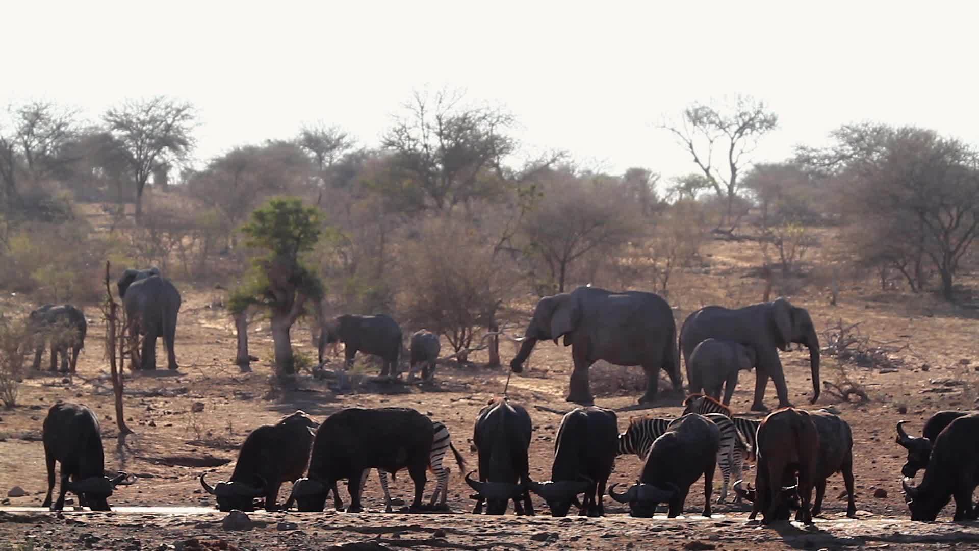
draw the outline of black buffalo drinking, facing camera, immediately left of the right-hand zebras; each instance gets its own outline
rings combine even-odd
[[[618,451],[619,424],[615,412],[596,407],[577,408],[561,420],[554,443],[551,479],[531,482],[554,517],[564,517],[572,503],[579,514],[601,517],[602,498]],[[583,503],[578,494],[584,493]]]

